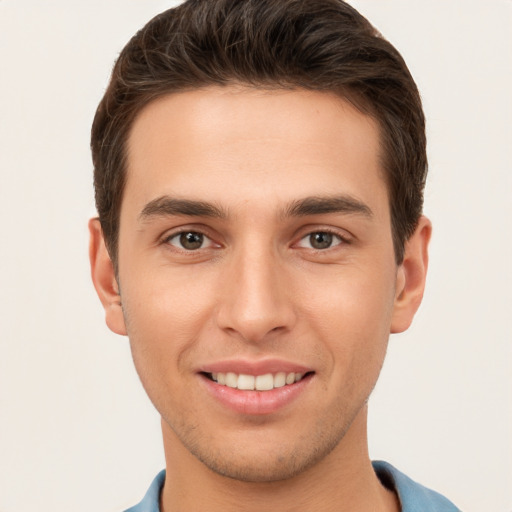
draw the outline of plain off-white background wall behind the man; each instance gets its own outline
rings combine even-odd
[[[512,2],[354,0],[428,117],[425,301],[395,336],[370,447],[463,510],[512,510]],[[0,512],[120,511],[159,419],[89,279],[90,124],[128,38],[173,2],[0,0]]]

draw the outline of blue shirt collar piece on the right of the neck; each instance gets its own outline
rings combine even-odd
[[[460,512],[444,496],[411,480],[391,464],[375,461],[373,468],[381,482],[398,494],[402,512]]]

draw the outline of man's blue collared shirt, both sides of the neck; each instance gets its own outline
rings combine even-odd
[[[444,496],[416,483],[387,462],[373,462],[373,469],[386,487],[396,491],[402,512],[460,512]],[[160,512],[159,499],[164,480],[165,470],[162,470],[153,480],[142,501],[125,512]]]

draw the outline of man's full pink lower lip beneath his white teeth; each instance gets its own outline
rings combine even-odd
[[[201,378],[208,391],[222,405],[240,414],[263,415],[275,413],[304,393],[313,375],[306,375],[299,382],[269,391],[243,391],[217,384],[205,375]]]

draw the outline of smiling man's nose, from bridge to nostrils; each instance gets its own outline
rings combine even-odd
[[[237,251],[223,276],[218,326],[250,343],[288,332],[296,315],[283,270],[282,262],[269,248]]]

